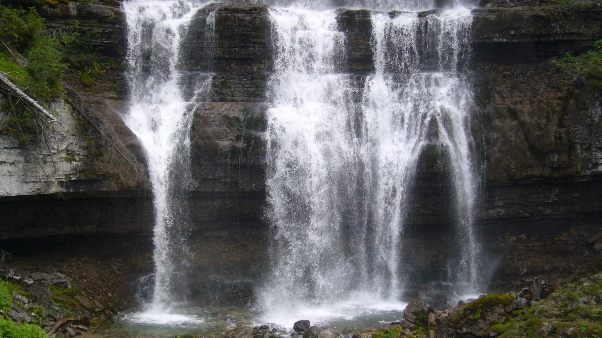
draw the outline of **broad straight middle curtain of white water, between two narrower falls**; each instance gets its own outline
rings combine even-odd
[[[333,74],[344,58],[335,13],[270,10],[275,75],[267,131],[269,217],[275,275],[264,301],[289,305],[336,298],[347,289],[343,208],[356,180],[349,79]]]

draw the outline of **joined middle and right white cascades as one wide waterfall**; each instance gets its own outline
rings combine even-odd
[[[278,314],[353,301],[361,304],[351,306],[355,315],[370,304],[403,308],[408,194],[429,143],[452,163],[462,249],[449,279],[459,292],[474,291],[473,94],[462,72],[470,10],[373,13],[375,71],[363,90],[359,77],[338,73],[346,58],[334,11],[273,9],[270,19],[266,183],[274,238],[272,273],[259,290],[271,313],[265,318],[284,323],[294,316]]]

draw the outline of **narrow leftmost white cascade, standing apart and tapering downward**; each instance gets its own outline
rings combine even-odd
[[[128,25],[128,83],[131,104],[123,119],[146,155],[154,194],[155,283],[149,311],[169,311],[182,299],[185,225],[190,167],[189,130],[194,104],[208,88],[199,81],[191,102],[182,93],[178,69],[182,37],[197,1],[128,0],[123,3]]]

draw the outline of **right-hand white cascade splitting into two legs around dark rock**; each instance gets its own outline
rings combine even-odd
[[[458,245],[462,248],[453,280],[468,286],[462,292],[474,290],[472,89],[459,72],[462,61],[470,57],[470,10],[446,10],[422,18],[417,13],[395,17],[373,13],[372,22],[376,72],[368,79],[364,95],[364,154],[369,171],[375,173],[368,183],[376,189],[374,242],[385,245],[379,246],[371,260],[389,270],[388,284],[397,291],[408,189],[424,146],[435,143],[447,151],[453,163]]]

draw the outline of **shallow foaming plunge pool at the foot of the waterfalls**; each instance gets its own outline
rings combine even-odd
[[[308,319],[311,325],[335,327],[338,331],[367,331],[384,328],[403,318],[406,302],[361,299],[296,308],[270,308],[257,305],[200,307],[191,303],[176,304],[169,313],[143,311],[119,314],[113,325],[97,331],[98,337],[171,337],[194,334],[202,337],[223,336],[229,332],[247,333],[253,327],[268,325],[278,334],[290,336],[293,324]]]

